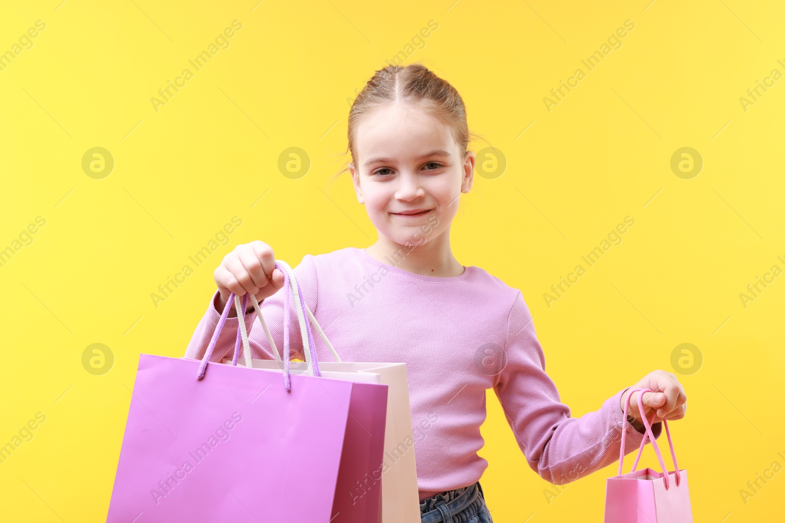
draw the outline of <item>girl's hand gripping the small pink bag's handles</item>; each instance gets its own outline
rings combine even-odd
[[[644,414],[652,425],[663,419],[670,421],[685,417],[687,395],[673,372],[665,372],[664,370],[650,372],[641,381],[630,387],[630,390],[640,388],[654,390],[653,393],[643,393]],[[624,411],[624,404],[627,401],[627,396],[630,395],[630,390],[622,394],[622,411]],[[630,399],[630,410],[627,411],[627,414],[634,416],[636,423],[643,427],[643,415],[638,409],[637,396]]]

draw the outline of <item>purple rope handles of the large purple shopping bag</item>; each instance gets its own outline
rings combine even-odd
[[[290,380],[290,372],[289,372],[289,358],[290,358],[290,343],[289,343],[289,307],[291,301],[291,289],[290,289],[290,271],[291,267],[288,266],[287,263],[279,262],[276,260],[276,267],[283,272],[283,289],[287,289],[287,297],[283,300],[283,386],[286,387],[287,392],[291,391],[291,380]],[[311,331],[311,322],[307,319],[307,307],[305,306],[305,297],[302,294],[302,289],[300,285],[298,285],[298,297],[300,298],[301,308],[303,309],[303,314],[306,315],[305,319],[305,330],[308,335],[309,340],[309,351],[311,353],[312,365],[313,365],[313,375],[314,376],[321,376],[321,372],[319,372],[319,361],[316,358],[316,344],[313,340],[313,333]],[[226,318],[229,316],[229,309],[232,307],[232,302],[234,301],[235,293],[230,292],[228,300],[226,300],[226,305],[224,306],[224,311],[221,313],[221,319],[218,321],[218,325],[215,328],[215,332],[213,332],[213,337],[210,339],[210,344],[207,346],[207,350],[204,353],[202,358],[202,362],[199,364],[199,372],[196,373],[196,379],[202,380],[204,378],[204,374],[207,370],[207,363],[210,360],[210,356],[213,355],[213,350],[215,349],[215,344],[218,341],[218,336],[221,335],[221,330],[224,329],[224,325],[226,323]],[[248,294],[243,295],[243,311],[246,310],[248,304]],[[238,311],[239,312],[239,311]],[[238,314],[239,318],[239,314]],[[237,365],[237,358],[239,355],[239,350],[241,346],[242,340],[240,337],[240,326],[237,326],[237,339],[235,341],[235,352],[232,358],[232,365]],[[250,354],[247,354],[250,358]]]

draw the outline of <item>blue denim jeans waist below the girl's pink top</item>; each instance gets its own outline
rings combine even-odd
[[[480,481],[423,500],[420,518],[422,523],[493,523]]]

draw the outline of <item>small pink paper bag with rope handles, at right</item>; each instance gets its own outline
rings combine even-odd
[[[633,389],[624,405],[624,417],[630,409],[630,398],[634,392],[638,394],[638,408],[644,412],[643,394],[653,392],[652,389]],[[663,419],[665,433],[670,445],[670,456],[674,459],[674,471],[668,472],[659,453],[659,447],[652,433],[652,426],[644,416],[646,434],[641,447],[638,449],[637,458],[633,469],[627,474],[622,474],[624,463],[624,436],[622,432],[622,448],[619,456],[619,475],[608,478],[605,485],[605,520],[604,523],[692,523],[692,507],[689,500],[689,487],[687,484],[687,470],[679,469],[676,463],[674,444],[670,439],[668,422]],[[647,438],[652,441],[652,447],[659,459],[663,472],[651,468],[635,470],[638,460],[641,459]]]

